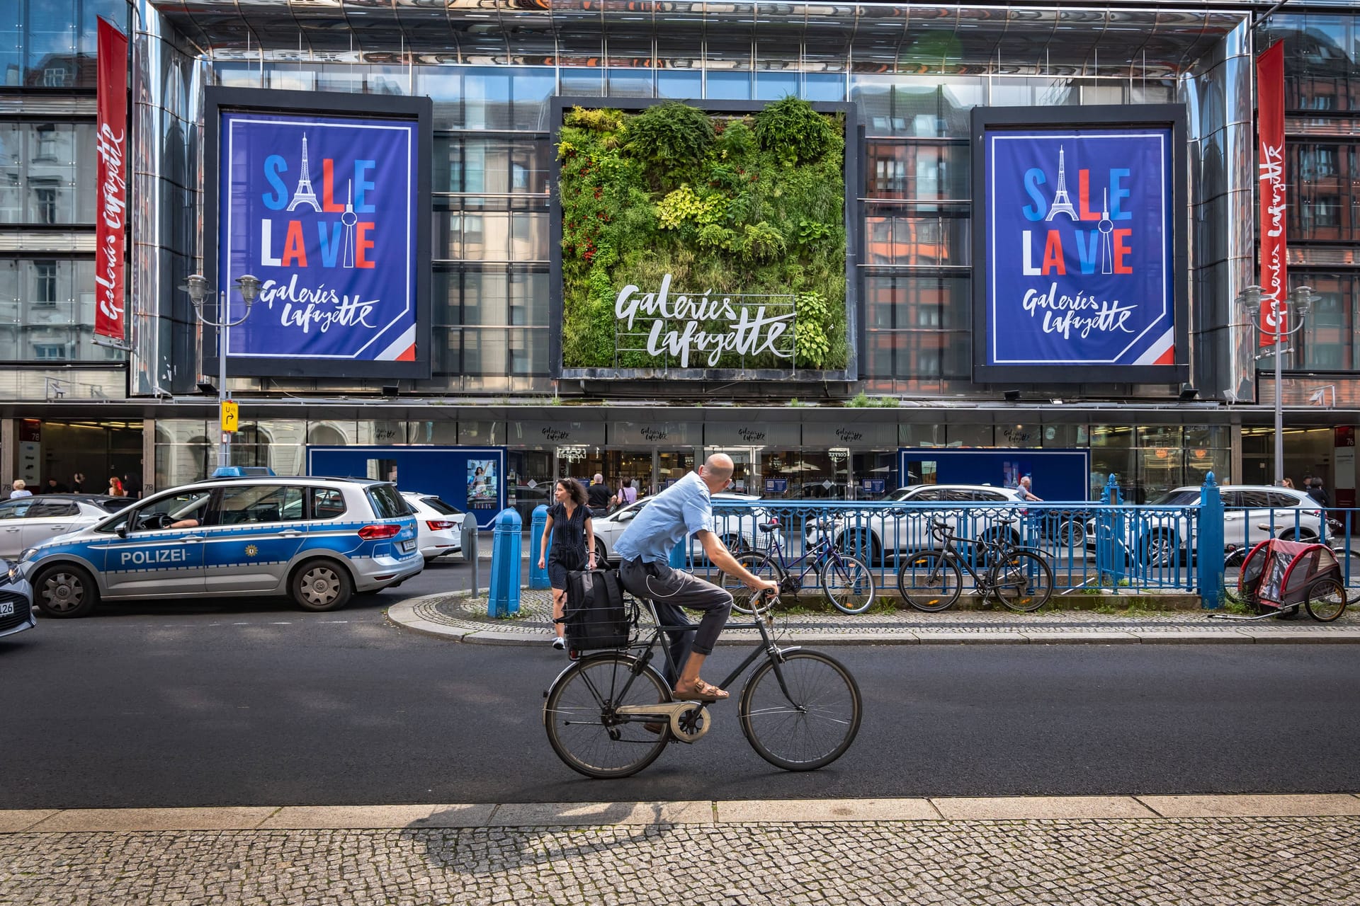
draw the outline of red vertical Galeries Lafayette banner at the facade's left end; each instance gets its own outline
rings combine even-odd
[[[128,179],[128,38],[99,19],[98,38],[99,99],[97,114],[99,160],[95,168],[95,312],[94,331],[99,337],[122,340],[124,246],[126,243]]]

